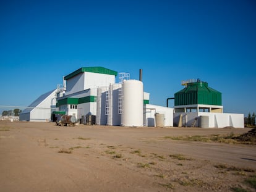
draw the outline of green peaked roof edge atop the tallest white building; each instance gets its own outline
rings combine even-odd
[[[65,76],[64,80],[68,80],[69,78],[75,77],[75,75],[83,72],[101,73],[117,76],[117,72],[115,72],[114,70],[106,69],[105,67],[81,67],[80,69],[77,69],[69,75]]]

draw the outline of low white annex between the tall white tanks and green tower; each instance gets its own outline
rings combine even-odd
[[[164,114],[164,126],[173,126],[174,109],[170,107],[155,106],[152,104],[144,105],[143,123],[145,126],[155,127],[155,114]]]

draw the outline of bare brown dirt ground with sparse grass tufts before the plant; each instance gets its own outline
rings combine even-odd
[[[168,139],[249,130],[0,121],[0,191],[255,191],[254,144]]]

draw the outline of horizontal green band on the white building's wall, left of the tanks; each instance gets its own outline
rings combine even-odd
[[[96,96],[86,96],[84,98],[65,98],[57,101],[56,107],[67,105],[67,104],[81,104],[86,102],[96,102]]]

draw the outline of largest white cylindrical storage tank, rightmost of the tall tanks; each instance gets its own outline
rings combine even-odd
[[[143,126],[143,83],[127,80],[122,85],[122,125]]]

